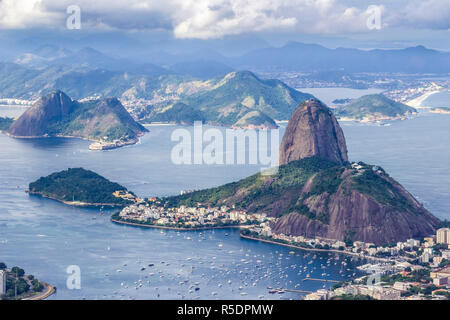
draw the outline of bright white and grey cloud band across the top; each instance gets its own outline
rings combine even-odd
[[[91,32],[162,31],[177,39],[416,36],[435,37],[434,47],[450,39],[450,0],[0,0],[0,32],[64,30],[71,5]]]

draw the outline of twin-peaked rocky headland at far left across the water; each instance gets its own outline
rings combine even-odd
[[[72,100],[62,91],[38,99],[8,128],[14,138],[68,137],[94,141],[91,150],[138,142],[148,130],[117,98]]]

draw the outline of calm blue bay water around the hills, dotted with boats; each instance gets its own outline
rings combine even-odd
[[[450,219],[449,124],[449,115],[421,113],[391,126],[342,125],[351,160],[383,166],[431,212]],[[24,192],[30,181],[68,167],[94,170],[141,196],[217,186],[259,170],[173,165],[174,129],[151,127],[140,144],[106,152],[90,152],[89,142],[77,139],[0,135],[0,261],[56,285],[52,299],[287,299],[300,294],[270,295],[267,287],[317,290],[323,284],[302,281],[306,274],[353,276],[353,269],[342,265],[348,257],[317,254],[313,259],[303,251],[290,255],[287,248],[240,239],[237,230],[177,233],[115,225],[108,212],[72,208]],[[66,288],[69,265],[81,268],[81,290]],[[142,287],[136,289],[138,281]],[[200,290],[189,293],[190,286]]]

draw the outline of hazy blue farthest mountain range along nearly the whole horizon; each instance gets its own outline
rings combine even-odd
[[[139,59],[107,55],[91,47],[75,52],[57,46],[40,46],[19,55],[15,62],[27,66],[85,65],[108,70],[139,70],[152,63],[164,68],[200,78],[223,76],[234,70],[303,71],[303,72],[388,72],[388,73],[448,73],[450,53],[425,48],[405,49],[354,48],[330,49],[318,44],[289,42],[282,47],[250,49],[247,53],[227,56],[204,48],[195,53],[151,52]],[[156,68],[158,66],[158,68]],[[167,71],[166,70],[166,71]],[[163,72],[162,69],[159,69]],[[218,72],[222,73],[218,73]]]

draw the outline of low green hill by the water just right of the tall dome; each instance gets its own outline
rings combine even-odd
[[[340,121],[374,122],[403,120],[417,114],[417,110],[383,94],[370,94],[336,107],[334,113]]]

